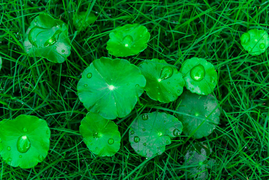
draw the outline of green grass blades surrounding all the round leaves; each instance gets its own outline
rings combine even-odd
[[[90,10],[98,20],[77,33],[72,17]],[[25,31],[41,12],[68,24],[71,55],[61,64],[29,57],[23,48]],[[50,149],[30,169],[11,167],[0,157],[0,179],[187,179],[184,154],[190,144],[203,142],[216,160],[208,179],[269,179],[269,59],[268,52],[252,56],[240,35],[252,28],[268,31],[269,3],[265,0],[44,0],[0,1],[0,120],[31,114],[51,128]],[[165,59],[180,68],[190,57],[214,64],[218,85],[213,95],[222,108],[214,132],[202,139],[182,135],[152,159],[134,152],[128,126],[142,112],[173,114],[175,102],[160,103],[144,93],[134,110],[115,119],[122,136],[112,157],[98,157],[79,134],[87,113],[76,94],[81,73],[94,59],[111,56],[109,32],[127,23],[145,25],[151,34],[147,49],[126,57]]]

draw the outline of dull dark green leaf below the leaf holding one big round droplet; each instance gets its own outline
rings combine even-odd
[[[178,118],[183,123],[183,132],[195,138],[206,137],[220,122],[220,109],[213,96],[184,92],[178,99]],[[185,113],[185,114],[182,114]],[[188,115],[187,115],[188,114]]]

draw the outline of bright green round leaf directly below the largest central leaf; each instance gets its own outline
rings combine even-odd
[[[112,156],[120,148],[120,132],[115,122],[88,112],[79,126],[87,147],[100,156]]]

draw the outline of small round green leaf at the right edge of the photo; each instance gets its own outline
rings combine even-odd
[[[263,29],[251,29],[241,35],[241,45],[250,54],[259,55],[269,47],[269,35]]]

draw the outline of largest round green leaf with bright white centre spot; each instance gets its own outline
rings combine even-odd
[[[145,85],[140,69],[128,60],[101,57],[83,71],[77,93],[89,111],[114,119],[131,112]]]

